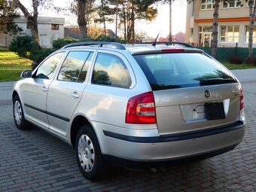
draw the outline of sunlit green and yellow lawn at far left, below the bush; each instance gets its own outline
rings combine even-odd
[[[20,73],[31,69],[31,60],[23,59],[16,53],[0,50],[0,81],[15,81],[20,79]]]

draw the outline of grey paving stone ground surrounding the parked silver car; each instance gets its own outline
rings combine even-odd
[[[0,83],[0,191],[256,191],[256,70],[236,70],[245,92],[248,126],[233,151],[176,166],[117,168],[104,181],[85,179],[74,149],[34,127],[14,125],[14,82]]]

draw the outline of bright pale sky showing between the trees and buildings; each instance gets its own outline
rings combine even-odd
[[[23,5],[26,8],[29,8],[31,1],[29,0],[20,0],[23,2]],[[59,5],[61,2],[61,5]],[[65,8],[69,5],[71,0],[53,0],[53,4],[55,6],[62,6]],[[186,25],[186,5],[187,2],[185,0],[179,0],[172,3],[172,35],[175,35],[178,32],[185,32],[185,25]],[[145,20],[140,20],[136,23],[136,31],[146,32],[149,37],[155,38],[157,37],[158,32],[160,32],[160,37],[166,38],[169,35],[169,5],[154,5],[157,7],[157,18],[151,22],[147,22]],[[56,11],[48,10],[41,10],[39,12],[40,17],[64,17],[66,26],[75,26],[77,25],[77,18],[72,15],[66,15],[63,13],[57,14]],[[115,24],[109,23],[107,25],[108,29],[112,29],[115,31]]]

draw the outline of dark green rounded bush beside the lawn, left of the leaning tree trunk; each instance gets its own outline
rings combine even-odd
[[[29,55],[31,51],[40,50],[39,44],[35,41],[35,38],[29,35],[17,36],[11,41],[9,50],[14,51],[20,57],[30,59]]]

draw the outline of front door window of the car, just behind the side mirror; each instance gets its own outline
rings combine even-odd
[[[65,52],[56,53],[45,60],[41,66],[38,67],[35,73],[35,78],[53,79],[56,66],[58,66]]]

